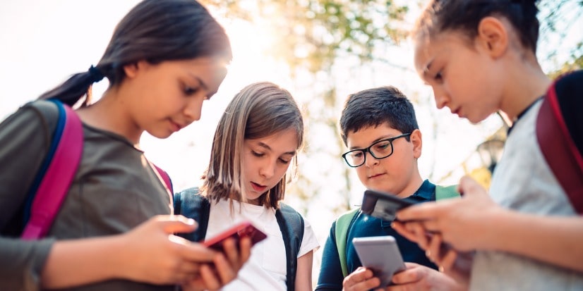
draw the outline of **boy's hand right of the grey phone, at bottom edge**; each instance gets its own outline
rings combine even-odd
[[[408,291],[408,290],[464,290],[464,286],[455,282],[453,278],[415,263],[405,263],[407,268],[404,271],[392,276],[392,283],[387,287],[388,291]]]

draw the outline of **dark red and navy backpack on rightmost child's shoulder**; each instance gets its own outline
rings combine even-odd
[[[536,140],[548,166],[583,215],[583,70],[553,82],[536,116]]]

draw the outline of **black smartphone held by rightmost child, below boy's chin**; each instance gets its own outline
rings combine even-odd
[[[399,198],[394,194],[366,190],[362,198],[361,211],[385,221],[394,221],[397,211],[416,203],[416,200]]]

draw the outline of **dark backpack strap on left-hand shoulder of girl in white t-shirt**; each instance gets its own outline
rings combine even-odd
[[[207,234],[210,203],[206,197],[198,194],[198,187],[188,188],[174,193],[174,214],[181,214],[193,218],[198,223],[198,228],[192,233],[179,233],[180,237],[192,242],[200,242]]]

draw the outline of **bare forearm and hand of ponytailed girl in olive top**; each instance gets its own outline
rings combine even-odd
[[[184,216],[157,216],[123,235],[55,242],[42,271],[42,286],[73,287],[114,278],[181,283],[217,255],[171,235],[195,228]]]

